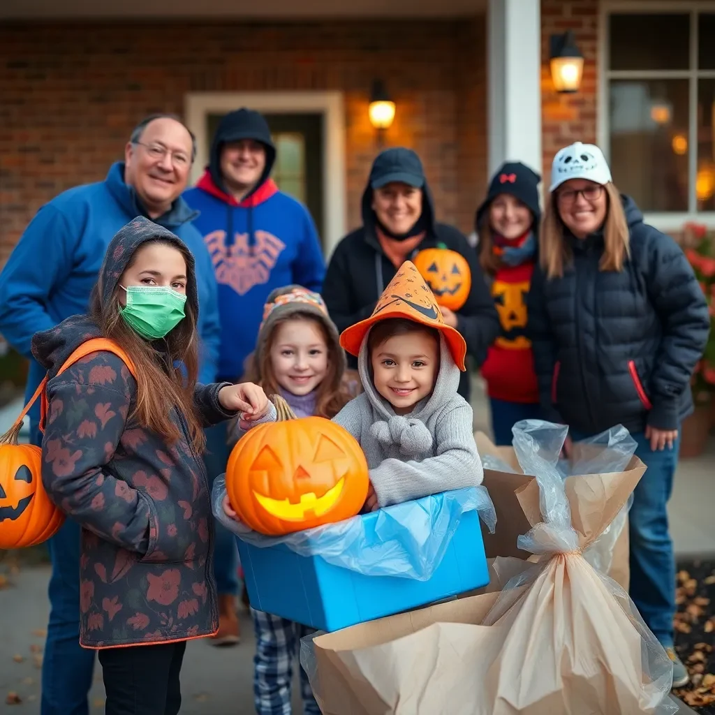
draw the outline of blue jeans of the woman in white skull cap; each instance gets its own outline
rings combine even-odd
[[[585,435],[574,434],[574,440]],[[638,443],[636,456],[646,473],[633,491],[628,513],[631,538],[631,598],[646,625],[664,646],[673,645],[675,606],[675,556],[666,505],[673,490],[680,437],[672,449],[651,450],[644,433],[631,437]]]

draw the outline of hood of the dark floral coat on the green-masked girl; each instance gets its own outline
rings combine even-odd
[[[187,303],[198,315],[199,299],[192,253],[184,245],[184,242],[174,236],[171,231],[143,216],[135,218],[120,229],[109,243],[107,252],[104,254],[102,269],[99,271],[99,280],[92,290],[92,297],[94,298],[94,295],[99,292],[102,305],[105,305],[107,301],[114,300],[114,291],[117,289],[119,277],[129,264],[129,260],[144,243],[157,239],[182,248],[189,256],[186,267]],[[32,355],[48,371],[49,377],[53,378],[72,352],[93,337],[102,337],[102,333],[89,315],[72,315],[51,330],[36,332],[32,336]]]

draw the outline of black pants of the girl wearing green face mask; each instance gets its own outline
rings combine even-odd
[[[186,641],[99,651],[107,691],[105,715],[177,715]]]

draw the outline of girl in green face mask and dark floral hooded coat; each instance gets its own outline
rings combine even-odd
[[[267,412],[252,383],[197,385],[198,310],[191,253],[137,218],[109,245],[88,315],[33,338],[49,373],[42,479],[83,527],[79,641],[99,650],[109,715],[179,711],[186,641],[218,627],[203,430]],[[99,350],[59,373],[97,337],[124,357]]]

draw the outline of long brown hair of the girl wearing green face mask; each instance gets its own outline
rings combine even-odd
[[[151,242],[143,243],[142,247]],[[155,242],[179,251],[187,266],[192,260],[187,251],[175,243],[161,239]],[[127,268],[132,266],[136,256],[137,253],[134,252]],[[119,315],[120,290],[122,288],[117,285],[112,299],[102,305],[101,291],[99,287],[95,287],[89,303],[89,316],[104,337],[114,340],[132,358],[137,373],[137,399],[132,416],[142,427],[161,435],[167,443],[175,444],[183,436],[179,425],[172,420],[170,408],[176,408],[187,422],[192,447],[200,454],[204,450],[206,438],[202,421],[194,406],[194,388],[199,372],[197,315],[194,304],[190,300],[185,303],[185,317],[164,338],[166,352],[162,355],[151,342],[134,332]],[[174,368],[176,363],[184,365],[185,376],[182,370]]]

